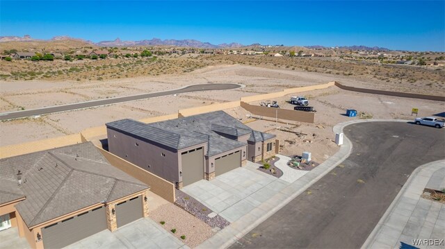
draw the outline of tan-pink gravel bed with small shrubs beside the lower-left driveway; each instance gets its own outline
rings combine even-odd
[[[191,248],[200,245],[200,243],[214,234],[212,227],[173,203],[165,203],[159,206],[150,212],[149,216],[170,234],[173,234],[173,236]],[[172,232],[172,230],[175,232]]]

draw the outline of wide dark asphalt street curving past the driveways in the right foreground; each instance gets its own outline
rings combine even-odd
[[[350,157],[232,248],[359,248],[410,173],[445,158],[445,129],[369,122],[344,132]]]

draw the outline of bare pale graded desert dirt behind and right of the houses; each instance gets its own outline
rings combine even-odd
[[[3,121],[0,123],[0,146],[19,144],[81,132],[86,128],[103,126],[104,123],[117,119],[143,119],[164,114],[172,114],[185,108],[193,108],[213,103],[238,100],[241,96],[250,96],[269,92],[278,92],[289,87],[317,85],[337,80],[344,85],[357,87],[375,87],[367,79],[351,78],[322,74],[309,71],[288,69],[268,69],[248,65],[220,65],[180,74],[178,76],[143,76],[115,80],[76,80],[45,81],[16,80],[0,82],[1,112],[29,110],[52,105],[63,105],[99,98],[127,96],[144,92],[175,89],[185,85],[202,83],[238,83],[243,87],[224,91],[195,92],[163,96],[142,101],[133,101],[115,105],[88,108]],[[337,87],[304,92],[310,105],[316,109],[315,123],[286,123],[275,120],[256,120],[249,118],[250,113],[243,108],[226,110],[232,116],[247,123],[254,129],[277,135],[282,144],[284,155],[301,155],[302,151],[312,152],[313,160],[323,162],[334,154],[338,147],[334,144],[332,126],[342,121],[359,119],[346,117],[346,109],[365,112],[374,119],[413,119],[411,108],[419,108],[419,116],[437,114],[445,110],[440,101],[425,101],[412,98],[378,96],[348,92]],[[436,95],[444,95],[444,91]],[[278,101],[280,108],[292,109],[287,103],[291,96],[270,99]],[[259,102],[252,103],[259,104]],[[277,127],[290,128],[300,132],[293,133],[277,130]]]

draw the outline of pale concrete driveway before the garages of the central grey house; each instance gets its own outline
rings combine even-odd
[[[182,191],[232,223],[289,184],[258,171],[259,166],[248,162],[246,166],[218,175],[213,180],[190,184]]]

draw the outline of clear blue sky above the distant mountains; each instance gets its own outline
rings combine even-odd
[[[445,0],[0,0],[0,35],[445,51]]]

